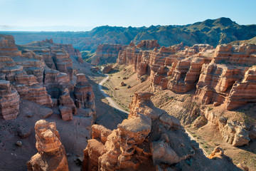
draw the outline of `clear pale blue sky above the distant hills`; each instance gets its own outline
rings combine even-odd
[[[256,24],[255,0],[0,0],[0,30],[89,31],[96,26],[185,25],[228,17]]]

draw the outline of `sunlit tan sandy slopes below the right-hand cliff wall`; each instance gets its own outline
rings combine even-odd
[[[151,91],[151,93],[154,93],[154,96],[151,98],[154,105],[166,110],[170,115],[174,115],[177,118],[182,117],[180,114],[172,113],[173,111],[169,110],[169,106],[174,103],[174,100],[182,98],[184,103],[187,103],[187,106],[191,105],[191,96],[194,92],[178,94],[171,92],[171,90],[153,90],[149,78],[142,83],[137,79],[137,73],[133,71],[133,66],[114,65],[114,70],[109,76],[110,78],[103,84],[103,88],[119,106],[124,108],[124,110],[128,111],[132,96],[136,91]],[[124,82],[124,86],[121,86],[122,82]],[[198,104],[192,103],[192,105]],[[245,122],[254,122],[255,120],[253,111],[255,111],[256,106],[253,103],[233,111],[225,110],[221,105],[218,107],[213,105],[198,105],[198,107],[208,108],[208,110],[221,113],[225,115],[225,117],[232,118],[233,120],[245,120]],[[223,140],[213,123],[208,122],[203,127],[197,129],[188,121],[189,120],[183,122],[183,127],[186,128],[208,154],[210,154],[215,147],[221,147],[225,151],[225,155],[231,157],[235,164],[245,163],[250,170],[256,170],[256,141],[251,141],[248,145],[242,147],[233,147],[233,145]]]

